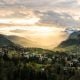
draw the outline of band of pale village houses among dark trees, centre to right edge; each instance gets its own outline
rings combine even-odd
[[[53,55],[51,57],[48,57],[46,54],[35,54],[35,53],[29,53],[25,52],[23,54],[23,57],[30,59],[34,58],[39,61],[46,61],[47,63],[58,63],[63,64],[65,67],[80,67],[80,56],[76,55]]]

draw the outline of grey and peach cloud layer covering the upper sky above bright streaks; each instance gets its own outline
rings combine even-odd
[[[37,17],[38,25],[80,26],[80,0],[0,0],[0,13],[0,18]]]

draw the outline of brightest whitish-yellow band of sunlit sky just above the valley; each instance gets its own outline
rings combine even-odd
[[[47,36],[47,35],[55,35],[57,32],[63,31],[62,28],[57,27],[45,27],[45,26],[11,26],[11,27],[2,27],[0,31],[12,31],[12,30],[24,30],[29,31],[35,35]],[[28,32],[26,33],[28,34]],[[33,35],[31,34],[31,35]]]

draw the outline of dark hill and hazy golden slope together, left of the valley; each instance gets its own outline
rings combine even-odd
[[[7,36],[7,35],[2,35],[0,34],[0,46],[11,46],[11,45],[16,45],[16,46],[22,46],[22,47],[37,47],[38,44],[28,40],[24,37],[19,37],[19,36]]]

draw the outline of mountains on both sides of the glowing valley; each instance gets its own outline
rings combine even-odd
[[[0,34],[0,46],[18,45],[22,47],[34,47],[37,48],[37,43],[19,36],[6,36]],[[74,31],[71,33],[67,40],[61,42],[61,44],[53,50],[56,51],[70,51],[80,52],[80,31]]]

